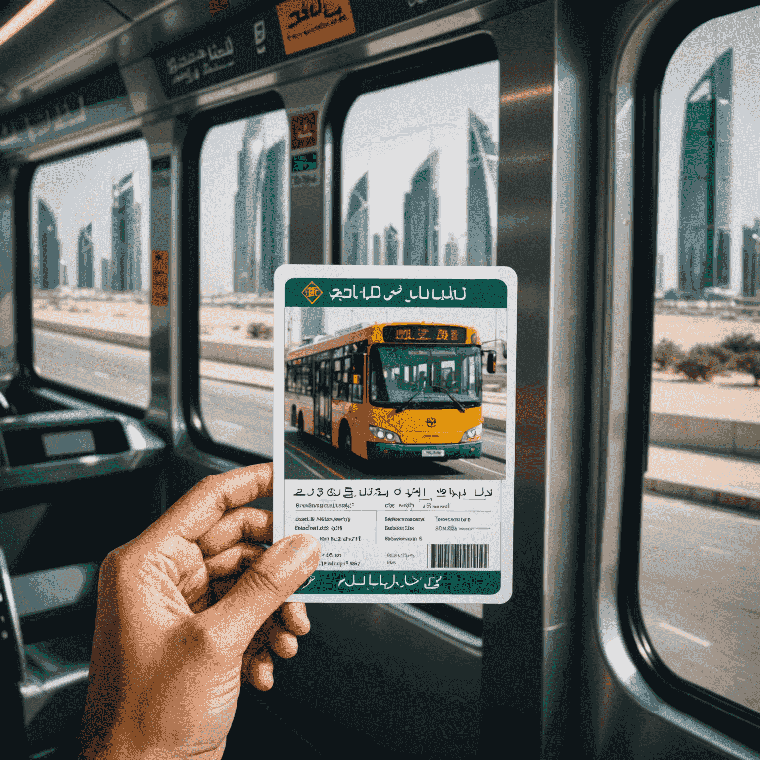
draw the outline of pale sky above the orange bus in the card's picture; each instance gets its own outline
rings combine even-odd
[[[285,342],[288,340],[288,325],[292,325],[290,343],[293,346],[301,343],[301,312],[300,306],[290,306],[285,310]],[[290,322],[290,318],[293,321]],[[426,322],[443,322],[448,325],[464,325],[476,328],[480,334],[480,340],[493,340],[506,337],[507,310],[506,309],[382,309],[370,308],[334,308],[325,307],[325,332],[334,334],[340,328],[348,328],[359,325],[361,322],[419,322],[424,318]],[[487,348],[492,348],[488,346]],[[499,347],[501,350],[501,347]]]

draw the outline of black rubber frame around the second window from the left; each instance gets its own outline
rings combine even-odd
[[[195,448],[239,464],[260,464],[272,459],[258,451],[215,441],[201,414],[201,150],[211,128],[280,110],[285,110],[283,100],[276,91],[268,90],[227,106],[202,111],[188,121],[181,148],[179,207],[182,220],[187,220],[187,223],[182,223],[183,253],[179,272],[182,292],[182,331],[179,337],[182,413],[188,421],[188,439]],[[193,223],[193,219],[197,219],[197,223]]]

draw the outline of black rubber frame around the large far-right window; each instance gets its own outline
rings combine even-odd
[[[760,749],[760,712],[682,679],[663,662],[644,625],[639,595],[643,476],[647,469],[657,256],[657,192],[660,90],[667,65],[692,31],[714,18],[757,7],[729,0],[715,14],[686,2],[674,4],[645,46],[633,87],[633,223],[629,322],[629,398],[622,489],[618,600],[623,638],[639,673],[664,701],[733,739]],[[689,8],[688,14],[685,12]],[[635,325],[635,328],[634,328]]]

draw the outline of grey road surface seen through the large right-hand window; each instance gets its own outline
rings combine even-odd
[[[645,496],[644,624],[677,675],[760,711],[760,517]]]

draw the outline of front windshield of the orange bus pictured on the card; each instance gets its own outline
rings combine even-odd
[[[375,345],[369,352],[369,400],[373,404],[413,404],[435,407],[480,406],[480,347]],[[444,391],[435,388],[445,388]],[[448,394],[451,394],[449,396]]]

